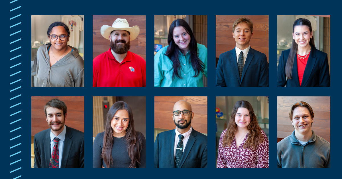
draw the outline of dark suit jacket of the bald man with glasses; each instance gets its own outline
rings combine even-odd
[[[161,132],[154,142],[154,167],[175,168],[175,129]],[[179,168],[207,168],[207,136],[192,129]]]

